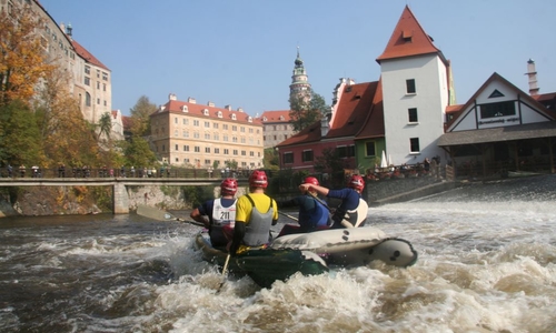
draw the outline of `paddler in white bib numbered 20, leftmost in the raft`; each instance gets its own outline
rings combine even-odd
[[[236,202],[238,182],[227,178],[220,183],[220,198],[207,200],[189,214],[209,230],[210,243],[214,248],[226,248],[231,241],[236,221]]]

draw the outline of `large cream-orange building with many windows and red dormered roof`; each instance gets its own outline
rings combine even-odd
[[[151,147],[170,165],[216,170],[262,168],[262,124],[241,108],[198,104],[193,98],[169,100],[150,115]],[[216,172],[216,171],[215,171]]]

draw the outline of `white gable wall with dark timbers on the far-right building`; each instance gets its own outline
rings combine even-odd
[[[506,117],[500,113],[499,117],[480,119],[477,105],[505,101],[517,101],[519,103],[516,108],[517,114]],[[446,132],[556,120],[555,110],[545,108],[535,98],[525,93],[496,72],[483,83],[467,103],[460,108],[454,108],[450,111],[449,115],[451,119],[446,124]]]

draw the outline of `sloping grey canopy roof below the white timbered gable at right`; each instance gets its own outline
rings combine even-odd
[[[556,121],[445,133],[438,147],[556,138]]]

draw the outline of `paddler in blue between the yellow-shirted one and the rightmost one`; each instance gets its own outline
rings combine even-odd
[[[304,184],[319,185],[314,176],[307,176]],[[299,225],[286,224],[278,236],[285,234],[304,233],[318,230],[325,230],[330,226],[330,209],[322,200],[318,199],[318,193],[314,189],[301,190],[301,195],[287,201],[278,201],[278,209],[299,206]]]

